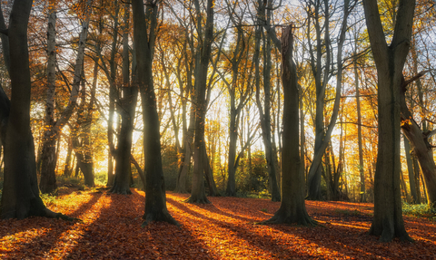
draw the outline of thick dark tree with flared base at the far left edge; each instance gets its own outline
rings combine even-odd
[[[12,92],[11,101],[8,102],[5,91],[0,91],[2,108],[5,107],[5,111],[9,111],[7,118],[1,119],[7,123],[2,123],[2,131],[5,130],[5,139],[2,140],[5,146],[5,183],[0,203],[0,217],[22,219],[40,216],[71,219],[46,208],[39,197],[35,145],[30,130],[31,82],[27,24],[32,3],[31,0],[14,2],[7,29]],[[7,108],[9,103],[10,109]],[[5,116],[3,113],[2,115]]]

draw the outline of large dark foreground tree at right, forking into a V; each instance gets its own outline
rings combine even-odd
[[[382,242],[411,240],[404,227],[400,189],[400,94],[409,53],[415,1],[400,0],[391,44],[386,43],[377,1],[363,1],[378,75],[379,146],[374,177],[374,218],[370,234]]]

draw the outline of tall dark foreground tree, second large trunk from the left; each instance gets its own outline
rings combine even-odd
[[[159,0],[147,0],[144,13],[144,1],[132,1],[137,80],[141,91],[144,121],[145,212],[143,226],[151,221],[166,221],[178,225],[166,208],[160,124],[154,94],[152,66],[159,4]]]

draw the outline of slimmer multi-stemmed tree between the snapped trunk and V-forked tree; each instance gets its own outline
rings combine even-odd
[[[327,130],[324,130],[324,105],[325,105],[325,93],[327,89],[327,84],[332,77],[332,39],[330,35],[330,3],[329,1],[324,1],[323,10],[324,14],[324,24],[320,24],[320,11],[322,10],[322,1],[315,1],[314,3],[307,6],[308,12],[312,13],[312,8],[314,9],[313,18],[314,26],[316,31],[316,46],[312,47],[310,38],[310,24],[308,26],[308,43],[309,52],[311,53],[311,67],[313,78],[316,86],[316,113],[315,113],[315,144],[313,152],[313,160],[311,168],[308,174],[308,199],[319,200],[322,199],[321,195],[321,177],[322,177],[322,156],[325,150],[329,146],[332,137],[332,130],[336,124],[339,113],[339,105],[341,102],[341,90],[342,90],[342,46],[345,42],[345,33],[348,30],[347,19],[352,11],[352,8],[357,4],[357,2],[350,0],[343,2],[343,16],[342,16],[342,26],[340,34],[338,35],[338,51],[337,51],[337,78],[336,78],[336,94],[334,98],[334,105],[332,110],[332,118],[330,120]],[[313,5],[313,6],[312,6]],[[311,11],[309,11],[311,10]],[[322,39],[323,31],[323,39]],[[322,60],[323,49],[325,48],[325,61]],[[314,50],[313,50],[314,49]],[[316,53],[316,59],[315,55]],[[324,64],[325,63],[325,64]],[[328,174],[327,174],[328,175]],[[328,182],[326,180],[326,182]],[[332,190],[333,193],[338,194],[337,190]]]

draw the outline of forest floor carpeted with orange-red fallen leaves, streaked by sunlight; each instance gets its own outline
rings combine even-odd
[[[1,259],[436,259],[436,222],[404,217],[415,243],[383,244],[369,236],[372,204],[307,201],[320,226],[257,225],[280,203],[261,198],[209,197],[183,203],[167,193],[167,207],[182,225],[144,228],[144,192],[63,188],[45,202],[83,222],[44,217],[0,220]]]

